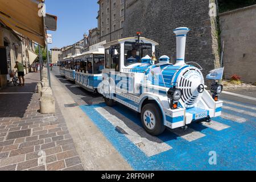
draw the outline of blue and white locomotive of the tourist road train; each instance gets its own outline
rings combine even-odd
[[[218,96],[222,85],[213,84],[213,97],[205,90],[200,69],[185,64],[185,41],[189,28],[176,28],[176,64],[168,56],[155,59],[158,43],[141,38],[125,38],[105,47],[105,69],[98,92],[108,106],[119,102],[141,113],[144,129],[151,135],[166,127],[186,128],[192,122],[210,121],[221,115]],[[151,56],[152,55],[152,56]],[[217,82],[217,81],[216,81]]]

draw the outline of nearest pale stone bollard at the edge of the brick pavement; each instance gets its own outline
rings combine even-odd
[[[52,94],[43,94],[40,98],[40,113],[55,113],[55,99]]]

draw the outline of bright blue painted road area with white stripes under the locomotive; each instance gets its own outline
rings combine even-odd
[[[125,106],[97,104],[81,109],[135,170],[256,169],[253,105],[226,101],[224,117],[192,123],[187,131],[166,130],[159,137],[147,135],[137,113]],[[209,164],[210,151],[217,154],[216,165]]]

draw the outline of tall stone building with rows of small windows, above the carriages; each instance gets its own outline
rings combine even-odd
[[[125,0],[99,0],[98,30],[100,42],[110,42],[123,37],[125,24]]]

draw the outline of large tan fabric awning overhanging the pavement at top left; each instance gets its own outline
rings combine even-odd
[[[46,30],[38,5],[43,0],[1,0],[0,20],[6,26],[45,46]]]

